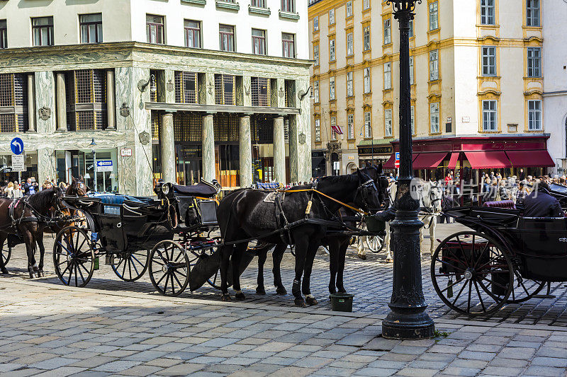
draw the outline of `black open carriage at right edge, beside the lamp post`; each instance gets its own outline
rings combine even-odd
[[[551,189],[560,201],[567,197],[561,192],[567,187]],[[444,211],[472,229],[445,238],[432,255],[434,289],[454,311],[491,314],[506,303],[549,296],[551,283],[567,282],[567,218],[524,217],[509,207]]]

